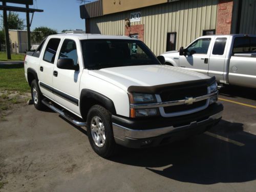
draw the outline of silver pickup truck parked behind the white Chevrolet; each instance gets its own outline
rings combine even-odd
[[[207,35],[163,53],[166,65],[215,76],[218,83],[256,88],[256,35]]]

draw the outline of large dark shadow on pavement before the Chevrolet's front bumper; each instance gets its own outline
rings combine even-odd
[[[146,167],[163,177],[197,184],[245,182],[256,179],[256,136],[242,123],[221,120],[209,132],[245,145],[205,134],[173,144],[134,150],[122,147],[111,160]],[[136,173],[134,173],[136,174]]]

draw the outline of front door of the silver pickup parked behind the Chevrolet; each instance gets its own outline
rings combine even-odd
[[[208,75],[210,48],[211,38],[194,41],[184,50],[185,54],[180,56],[180,67]]]

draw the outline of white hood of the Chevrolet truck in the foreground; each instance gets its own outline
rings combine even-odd
[[[165,65],[105,68],[90,70],[89,74],[115,84],[124,91],[130,86],[157,86],[209,78],[201,73]]]

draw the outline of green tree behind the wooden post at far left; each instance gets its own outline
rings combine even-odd
[[[7,19],[9,29],[24,30],[24,19],[19,18],[18,13],[10,11],[9,14],[7,15]],[[2,29],[4,29],[3,15],[1,15],[1,27]]]

